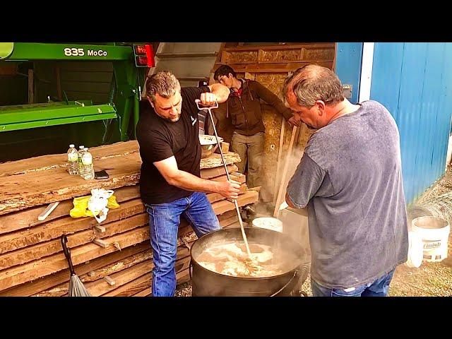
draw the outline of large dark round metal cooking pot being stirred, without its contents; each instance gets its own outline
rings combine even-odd
[[[245,228],[249,243],[271,246],[278,256],[284,251],[296,255],[297,260],[289,263],[283,273],[266,278],[242,278],[216,273],[201,266],[196,258],[208,247],[226,242],[243,242],[239,227],[231,227],[204,235],[194,242],[190,249],[191,286],[194,297],[242,296],[273,297],[299,295],[299,287],[307,279],[309,260],[307,249],[286,234],[262,228]]]

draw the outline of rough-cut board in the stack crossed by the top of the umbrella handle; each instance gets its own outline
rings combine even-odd
[[[100,234],[95,234],[93,230],[85,230],[81,232],[76,232],[74,234],[69,234],[67,246],[69,246],[69,248],[81,246],[83,244],[88,244],[88,242],[93,241],[95,237],[97,238],[110,237],[115,234],[132,230],[133,228],[136,227],[148,225],[148,220],[149,220],[148,213],[141,213],[138,215],[133,215],[131,218],[107,224],[106,232]],[[97,241],[101,240],[97,239]],[[27,263],[28,261],[36,260],[44,256],[50,256],[62,250],[63,249],[61,247],[60,239],[53,239],[49,242],[35,244],[32,246],[27,246],[23,249],[7,252],[5,254],[0,255],[0,270],[3,270],[11,266]]]

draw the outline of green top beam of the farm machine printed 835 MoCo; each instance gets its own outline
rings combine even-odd
[[[130,60],[131,46],[15,42],[6,60]]]

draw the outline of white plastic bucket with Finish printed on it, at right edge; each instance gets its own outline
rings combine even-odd
[[[424,260],[436,262],[447,258],[447,242],[451,232],[447,220],[431,216],[415,218],[411,230],[422,239]]]

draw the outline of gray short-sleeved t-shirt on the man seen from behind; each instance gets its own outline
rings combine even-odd
[[[388,109],[366,101],[316,131],[287,186],[308,206],[311,278],[357,287],[407,261],[400,137]]]

